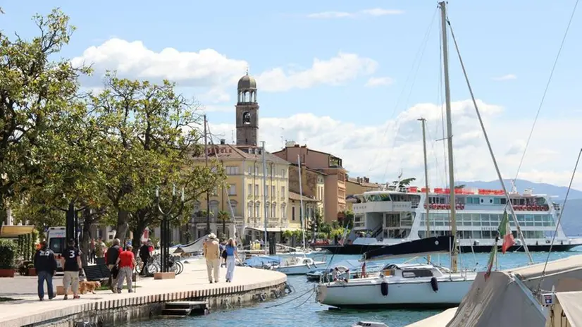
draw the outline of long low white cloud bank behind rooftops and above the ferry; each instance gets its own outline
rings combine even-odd
[[[508,120],[502,107],[478,101],[485,128],[504,178],[514,178],[525,146],[531,121]],[[380,118],[381,113],[374,113]],[[496,180],[475,109],[470,100],[452,103],[453,146],[456,180]],[[281,149],[283,140],[295,140],[309,148],[340,156],[349,175],[366,175],[374,181],[393,180],[400,169],[423,185],[422,132],[418,118],[427,120],[429,183],[446,185],[445,154],[442,138],[441,106],[416,104],[391,121],[377,125],[358,125],[328,116],[297,113],[288,118],[261,118],[260,140],[269,151]],[[579,118],[539,121],[528,146],[519,178],[567,185],[577,156],[574,144],[580,144]],[[233,124],[213,124],[214,135],[230,140]],[[543,133],[543,130],[559,130]],[[582,178],[574,186],[582,189]],[[535,191],[535,190],[534,190]]]

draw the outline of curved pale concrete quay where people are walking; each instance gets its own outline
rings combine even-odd
[[[189,262],[175,279],[138,278],[136,292],[127,292],[124,285],[121,294],[101,290],[81,295],[79,300],[63,301],[59,295],[49,301],[45,292],[40,302],[36,277],[0,278],[0,297],[18,299],[0,302],[0,326],[75,326],[78,321],[115,326],[157,316],[166,302],[206,301],[210,309],[228,309],[284,294],[287,276],[283,273],[236,267],[233,282],[225,283],[226,269],[221,268],[220,282],[210,284],[204,259]],[[62,285],[62,278],[55,278],[57,285]]]

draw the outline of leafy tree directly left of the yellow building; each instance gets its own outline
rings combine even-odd
[[[92,95],[100,137],[108,142],[100,169],[117,238],[131,228],[139,244],[144,228],[159,221],[156,187],[163,208],[170,205],[174,185],[185,189],[185,204],[177,207],[175,216],[187,221],[194,199],[225,178],[218,163],[216,171],[192,166],[191,156],[202,152],[198,106],[175,94],[174,88],[167,80],[156,85],[108,73],[104,92]]]

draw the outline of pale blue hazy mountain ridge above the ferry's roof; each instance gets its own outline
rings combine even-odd
[[[511,191],[511,180],[503,180],[503,183],[505,184],[505,187],[507,187],[507,190]],[[499,183],[499,180],[492,180],[490,182],[483,182],[481,180],[476,180],[473,182],[457,182],[457,185],[466,185],[466,187],[477,187],[491,190],[501,189],[501,183]],[[529,180],[516,180],[515,185],[517,187],[517,192],[524,192],[526,188],[531,188],[533,189],[533,194],[555,195],[562,200],[564,197],[566,197],[566,191],[568,190],[568,187],[566,186],[556,186],[546,183],[533,183]],[[574,189],[570,190],[568,199],[582,199],[582,191]]]

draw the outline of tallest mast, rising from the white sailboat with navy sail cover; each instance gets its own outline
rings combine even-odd
[[[450,206],[451,206],[451,233],[453,235],[452,253],[451,253],[451,270],[457,271],[457,216],[455,212],[454,201],[454,163],[452,155],[452,120],[451,120],[451,90],[449,85],[449,53],[447,44],[447,8],[446,1],[441,1],[440,19],[442,32],[442,64],[445,72],[445,109],[447,113],[447,152],[449,161],[449,189],[450,189]]]

